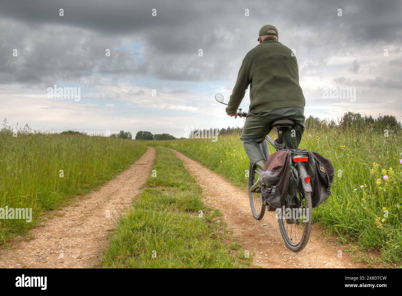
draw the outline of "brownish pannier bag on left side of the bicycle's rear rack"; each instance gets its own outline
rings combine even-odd
[[[277,151],[268,156],[263,167],[261,193],[270,207],[276,209],[285,204],[290,174],[290,152]]]

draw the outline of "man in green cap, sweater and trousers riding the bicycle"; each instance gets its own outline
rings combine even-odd
[[[271,124],[281,118],[295,122],[294,131],[285,129],[283,139],[287,149],[297,149],[304,131],[304,100],[299,85],[299,68],[293,52],[278,41],[278,30],[272,25],[260,29],[258,44],[243,59],[226,113],[237,117],[244,93],[250,84],[250,107],[240,138],[254,170],[261,176],[266,162],[265,136]],[[251,187],[255,192],[262,178]]]

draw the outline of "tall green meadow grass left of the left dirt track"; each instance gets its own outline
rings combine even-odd
[[[144,143],[110,137],[0,132],[0,209],[32,208],[33,221],[0,219],[0,244],[35,226],[41,213],[127,168]]]

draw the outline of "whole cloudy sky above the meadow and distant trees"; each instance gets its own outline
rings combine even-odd
[[[242,126],[214,95],[228,100],[260,27],[272,24],[295,50],[306,117],[353,111],[399,121],[401,15],[398,0],[4,0],[0,116],[33,129],[176,137],[192,126]],[[80,101],[49,98],[54,85],[79,87]],[[354,87],[356,98],[323,98],[335,87]]]

